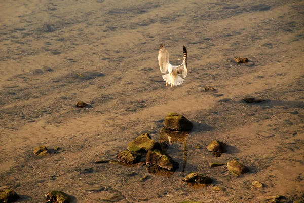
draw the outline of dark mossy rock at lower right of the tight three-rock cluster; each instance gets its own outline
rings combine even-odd
[[[170,171],[178,168],[178,163],[173,161],[173,159],[169,155],[164,152],[161,152],[160,150],[149,150],[146,155],[146,163],[147,165],[154,164]]]

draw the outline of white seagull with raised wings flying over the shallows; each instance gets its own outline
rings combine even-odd
[[[167,85],[171,85],[171,88],[173,86],[181,85],[185,81],[185,77],[188,73],[187,68],[187,49],[185,46],[182,46],[183,50],[183,61],[181,65],[171,65],[169,63],[169,52],[166,50],[164,45],[160,45],[160,51],[159,51],[159,65],[160,70],[162,73],[167,73],[166,75],[163,75],[163,79],[166,81],[166,87]],[[180,77],[182,76],[182,77]]]

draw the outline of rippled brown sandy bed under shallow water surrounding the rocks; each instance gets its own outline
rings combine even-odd
[[[303,199],[303,14],[303,1],[1,1],[0,187],[12,187],[22,202],[42,202],[53,189],[77,202],[116,194],[120,202]],[[187,47],[182,86],[165,87],[161,43],[174,64]],[[104,76],[79,77],[88,71]],[[245,104],[247,95],[268,101]],[[77,108],[77,101],[91,107]],[[169,112],[195,127],[184,173],[184,142],[168,150],[180,166],[171,177],[145,166],[93,163],[116,159],[142,132],[158,141]],[[205,147],[215,139],[229,153],[209,154]],[[65,151],[34,158],[41,144]],[[231,159],[250,173],[208,167]],[[185,185],[190,172],[207,174],[226,191]],[[253,189],[253,181],[265,187]],[[110,189],[87,191],[100,184]]]

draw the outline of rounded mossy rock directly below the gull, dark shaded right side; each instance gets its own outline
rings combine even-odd
[[[180,114],[169,113],[165,118],[165,126],[178,131],[191,131],[193,124]]]

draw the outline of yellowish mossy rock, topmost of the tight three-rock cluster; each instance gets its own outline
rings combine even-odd
[[[161,145],[151,139],[148,133],[141,134],[128,144],[128,150],[134,153],[147,153],[149,150],[162,150]]]

